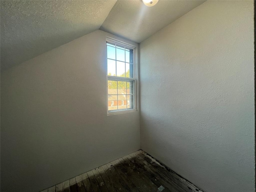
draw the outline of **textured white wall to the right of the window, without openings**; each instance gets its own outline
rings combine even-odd
[[[140,44],[141,147],[206,192],[254,191],[253,1],[207,1]]]

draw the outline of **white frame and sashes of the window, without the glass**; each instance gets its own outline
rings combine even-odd
[[[124,46],[126,48],[133,49],[133,78],[124,78],[119,76],[108,76],[108,64],[107,64],[107,42],[116,44],[119,46]],[[114,114],[123,114],[129,112],[135,112],[138,110],[138,58],[137,58],[137,46],[132,44],[128,44],[127,42],[122,42],[120,40],[116,40],[114,38],[106,37],[106,89],[107,89],[107,101],[108,101],[108,78],[113,79],[120,79],[120,80],[134,80],[134,108],[127,109],[127,110],[120,110],[120,111],[108,111],[107,105],[107,115],[114,115]],[[127,103],[126,103],[127,104]]]

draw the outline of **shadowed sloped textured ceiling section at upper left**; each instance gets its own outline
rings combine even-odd
[[[116,0],[1,0],[1,70],[98,30]]]

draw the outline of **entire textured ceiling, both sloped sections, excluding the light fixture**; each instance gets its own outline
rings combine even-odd
[[[204,1],[1,0],[1,70],[101,29],[142,42]]]

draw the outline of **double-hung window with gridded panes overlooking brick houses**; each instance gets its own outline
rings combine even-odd
[[[106,41],[108,114],[136,110],[135,47]]]

